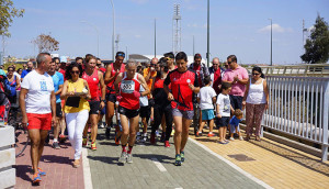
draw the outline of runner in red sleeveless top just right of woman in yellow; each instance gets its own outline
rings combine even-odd
[[[95,151],[95,138],[98,135],[99,111],[105,107],[105,85],[103,74],[95,69],[97,58],[89,56],[86,59],[86,69],[82,79],[87,80],[90,88],[91,100],[89,100],[89,122],[91,123],[91,149]],[[99,89],[101,88],[101,99]],[[88,142],[88,124],[84,126],[82,146]]]

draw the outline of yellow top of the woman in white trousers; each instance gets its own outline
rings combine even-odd
[[[73,82],[71,79],[68,80],[67,92],[72,92],[72,91],[82,92],[83,88],[84,88],[83,79],[79,78],[76,82]],[[64,107],[65,113],[76,113],[82,110],[88,110],[88,111],[90,110],[89,102],[83,98],[80,98],[78,108],[69,107],[69,105]]]

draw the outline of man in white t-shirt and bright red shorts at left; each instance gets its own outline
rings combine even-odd
[[[52,63],[50,54],[38,54],[36,63],[38,67],[26,75],[20,93],[22,125],[27,127],[31,138],[32,181],[34,184],[38,184],[42,180],[41,176],[46,175],[38,165],[48,131],[52,124],[56,123],[54,82],[46,73]]]

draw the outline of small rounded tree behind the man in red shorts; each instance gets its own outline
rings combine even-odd
[[[57,42],[54,37],[46,34],[38,35],[32,43],[37,45],[38,53],[48,52],[52,53],[54,51],[58,51],[59,42]]]

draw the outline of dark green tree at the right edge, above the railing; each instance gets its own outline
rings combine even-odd
[[[327,63],[329,59],[328,23],[318,14],[315,30],[304,45],[305,54],[300,58],[309,64]]]

